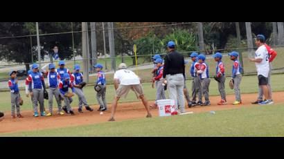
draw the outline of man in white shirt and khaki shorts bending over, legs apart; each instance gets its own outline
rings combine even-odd
[[[118,69],[119,70],[114,73],[114,88],[116,89],[116,97],[114,98],[114,102],[112,102],[112,114],[109,118],[109,121],[114,121],[114,113],[116,112],[117,102],[121,97],[126,97],[130,89],[134,91],[137,98],[142,100],[143,105],[148,113],[146,118],[151,118],[152,115],[150,113],[148,101],[143,95],[140,78],[134,72],[127,70],[127,66],[124,63],[119,64]]]

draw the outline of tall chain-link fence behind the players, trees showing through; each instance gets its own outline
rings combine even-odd
[[[112,82],[113,69],[124,62],[133,71],[149,82],[153,68],[152,56],[166,55],[166,44],[175,41],[177,51],[182,53],[189,63],[186,64],[186,75],[189,76],[191,60],[190,53],[204,53],[209,66],[210,75],[215,73],[213,53],[220,52],[224,55],[223,62],[227,75],[231,75],[232,62],[227,54],[236,50],[242,55],[242,66],[245,75],[256,73],[254,63],[249,62],[247,46],[247,28],[245,22],[204,22],[200,29],[199,22],[96,22],[87,23],[87,58],[83,58],[82,49],[82,22],[39,22],[39,44],[41,61],[38,61],[37,36],[35,23],[7,22],[0,24],[0,88],[7,88],[8,72],[18,71],[18,78],[25,79],[26,71],[33,63],[41,66],[62,59],[66,62],[66,68],[73,71],[74,64],[89,63],[89,82],[94,82],[96,73],[92,67],[94,64],[102,64],[103,71],[107,73],[108,82]],[[281,28],[278,25],[274,30],[274,23],[251,23],[251,37],[258,34],[267,37],[267,44],[278,53],[273,62],[274,73],[284,70],[283,55],[284,46],[281,44]],[[278,24],[278,23],[277,23]],[[283,26],[282,26],[283,28]],[[202,30],[202,34],[200,33]],[[282,30],[283,33],[283,30]],[[202,36],[202,37],[201,37]],[[276,38],[277,37],[277,38]],[[111,53],[109,41],[114,41],[114,55]],[[202,40],[203,39],[203,40]],[[252,39],[253,40],[253,39]],[[137,46],[136,56],[133,51]],[[111,47],[110,47],[111,46]],[[56,48],[58,52],[56,51]],[[253,42],[254,50],[256,46]],[[56,53],[57,52],[57,53]],[[58,55],[58,58],[57,58]],[[137,59],[137,67],[136,67]],[[82,69],[83,71],[83,69]],[[24,86],[24,81],[19,82]]]

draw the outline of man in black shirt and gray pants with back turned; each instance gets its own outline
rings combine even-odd
[[[180,104],[179,113],[185,113],[184,109],[184,56],[175,51],[175,42],[168,42],[168,54],[164,58],[163,78],[168,83],[170,99],[175,100],[175,106]],[[164,83],[166,83],[164,81]],[[178,102],[177,102],[178,101]]]

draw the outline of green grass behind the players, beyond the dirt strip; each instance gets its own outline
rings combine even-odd
[[[226,93],[227,94],[233,94],[233,90],[229,89],[229,79],[226,80]],[[283,85],[283,79],[284,74],[278,74],[278,75],[272,75],[272,90],[273,91],[284,91],[284,85]],[[186,86],[189,88],[191,92],[191,80],[186,81]],[[143,91],[145,93],[145,96],[148,98],[148,100],[155,100],[156,97],[156,89],[151,88],[150,83],[144,83],[143,84]],[[254,76],[245,76],[242,77],[242,82],[240,84],[240,91],[241,93],[256,93],[258,91],[258,79],[256,75]],[[32,110],[32,104],[30,101],[30,98],[27,98],[25,96],[24,91],[21,91],[21,97],[23,97],[24,105],[21,106],[21,110]],[[96,100],[96,93],[94,91],[93,86],[87,86],[84,88],[85,97],[87,99],[87,102],[91,105],[97,104]],[[107,103],[111,103],[114,99],[114,86],[113,85],[107,85]],[[209,93],[210,95],[219,95],[218,92],[218,85],[217,82],[215,82],[214,79],[211,79],[211,84],[209,87]],[[168,95],[168,91],[167,91]],[[74,102],[71,104],[71,106],[78,106],[78,97],[77,95],[73,97]],[[10,111],[10,92],[0,92],[0,110],[1,111]],[[139,101],[136,99],[136,96],[134,93],[130,92],[129,95],[127,95],[127,98],[122,98],[120,102],[136,102]],[[48,101],[45,100],[44,103],[45,107],[48,106]],[[53,105],[56,107],[56,102],[53,100]]]

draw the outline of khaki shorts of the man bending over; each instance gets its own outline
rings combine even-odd
[[[137,98],[143,95],[142,85],[134,84],[134,85],[119,85],[116,90],[116,97],[126,97],[128,92],[132,89],[134,91]]]

